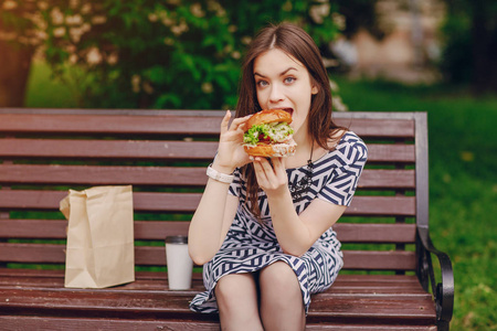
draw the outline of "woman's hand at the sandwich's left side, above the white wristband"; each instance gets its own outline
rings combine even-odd
[[[232,173],[236,168],[248,163],[248,154],[243,149],[243,134],[245,122],[251,115],[233,119],[230,125],[231,113],[226,111],[221,122],[218,156],[212,167],[223,173]]]

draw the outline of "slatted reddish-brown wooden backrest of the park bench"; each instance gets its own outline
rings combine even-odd
[[[68,189],[134,186],[136,264],[163,266],[163,238],[187,234],[215,154],[218,110],[0,109],[0,266],[64,264]],[[422,117],[422,116],[421,116]],[[368,166],[334,226],[346,269],[413,270],[416,161],[426,135],[415,113],[336,113],[368,145]],[[423,159],[423,158],[421,158]],[[417,206],[416,206],[417,202]],[[157,246],[158,245],[158,246]],[[408,248],[405,250],[405,248]]]

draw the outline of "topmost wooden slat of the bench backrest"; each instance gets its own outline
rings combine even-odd
[[[135,113],[137,114],[137,113]],[[212,116],[148,116],[148,115],[43,115],[0,114],[0,132],[9,134],[126,134],[126,135],[211,135],[220,132],[224,111]],[[414,122],[410,119],[340,118],[336,122],[361,137],[414,137]]]

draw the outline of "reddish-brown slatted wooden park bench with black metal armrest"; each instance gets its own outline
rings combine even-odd
[[[218,330],[167,285],[163,239],[186,234],[223,111],[0,109],[0,325],[8,330]],[[336,113],[368,143],[334,227],[345,267],[311,297],[307,330],[447,330],[451,261],[429,236],[424,113]],[[67,189],[131,184],[136,281],[64,288]],[[436,257],[432,264],[432,255]],[[434,267],[435,265],[435,267]],[[436,275],[435,275],[436,274]]]

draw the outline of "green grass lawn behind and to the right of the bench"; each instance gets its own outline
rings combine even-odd
[[[451,330],[497,330],[497,98],[464,88],[334,77],[352,110],[429,114],[430,227],[454,266]],[[77,107],[71,88],[35,63],[27,107]]]

